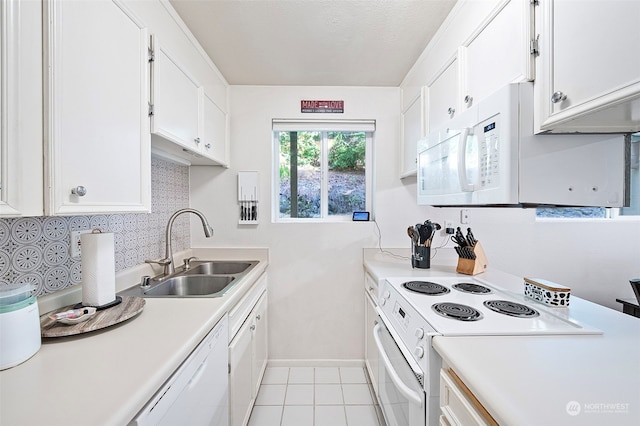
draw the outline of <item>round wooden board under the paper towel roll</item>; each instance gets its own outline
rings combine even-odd
[[[108,309],[97,311],[87,321],[67,325],[49,318],[50,314],[74,309],[75,305],[47,312],[40,316],[40,335],[42,337],[64,337],[88,333],[119,324],[138,315],[144,309],[145,300],[141,297],[124,296],[122,302]]]

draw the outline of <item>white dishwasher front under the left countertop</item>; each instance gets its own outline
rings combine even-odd
[[[229,325],[225,315],[130,425],[212,425],[229,422]]]

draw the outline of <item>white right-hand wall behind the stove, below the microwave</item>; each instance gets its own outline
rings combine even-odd
[[[443,209],[459,222],[460,209]],[[489,267],[566,285],[571,294],[622,310],[640,277],[640,217],[635,220],[536,221],[535,209],[473,208],[474,235]],[[499,284],[499,283],[498,283]]]

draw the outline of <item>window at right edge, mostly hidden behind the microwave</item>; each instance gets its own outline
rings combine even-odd
[[[629,207],[544,207],[536,209],[538,218],[593,219],[640,216],[640,133],[631,135]]]

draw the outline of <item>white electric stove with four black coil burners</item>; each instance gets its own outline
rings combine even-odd
[[[391,425],[438,424],[442,360],[434,336],[602,334],[572,318],[570,308],[470,276],[387,278],[378,296],[379,398]]]

